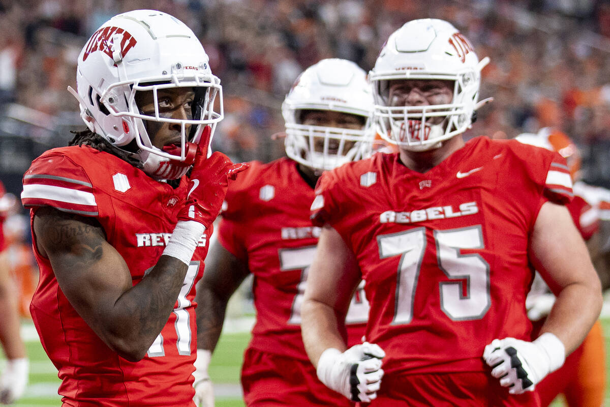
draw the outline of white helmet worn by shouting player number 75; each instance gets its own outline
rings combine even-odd
[[[425,151],[470,128],[478,108],[481,69],[470,42],[447,21],[413,20],[393,32],[368,74],[375,96],[377,131],[385,140],[411,151]],[[389,106],[390,81],[453,81],[449,104]],[[439,124],[433,117],[443,117]]]

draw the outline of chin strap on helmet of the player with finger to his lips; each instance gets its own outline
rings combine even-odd
[[[156,147],[153,147],[157,149]],[[165,153],[181,154],[180,146],[174,144],[164,146],[162,150]],[[197,153],[197,145],[195,143],[187,143],[184,151],[184,161],[169,159],[159,156],[149,151],[140,151],[142,157],[143,170],[146,174],[154,179],[178,179],[187,173],[191,165],[195,162]]]

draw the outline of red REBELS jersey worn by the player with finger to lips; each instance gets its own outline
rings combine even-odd
[[[124,160],[88,146],[51,149],[32,162],[21,199],[32,208],[95,217],[129,266],[134,285],[163,253],[184,204],[178,189]],[[207,231],[208,233],[210,231]],[[195,284],[203,273],[206,234],[195,250],[174,311],[142,361],[110,350],[63,295],[48,259],[36,250],[40,282],[30,311],[46,353],[59,370],[59,394],[71,406],[194,406]]]

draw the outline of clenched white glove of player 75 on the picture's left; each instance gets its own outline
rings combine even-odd
[[[318,379],[354,402],[370,402],[377,397],[386,353],[375,344],[354,345],[341,353],[336,348],[323,351],[318,361]]]

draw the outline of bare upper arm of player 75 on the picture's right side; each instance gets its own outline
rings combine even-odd
[[[529,258],[555,294],[569,284],[597,281],[587,247],[567,208],[551,202],[540,208]]]

